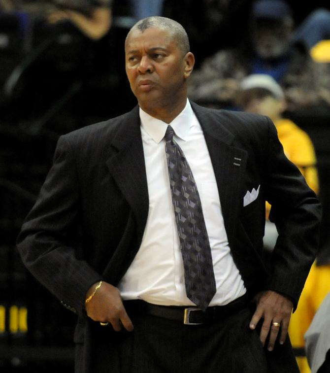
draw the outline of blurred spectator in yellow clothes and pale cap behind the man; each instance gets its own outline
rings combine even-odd
[[[313,143],[306,132],[290,119],[283,117],[286,101],[280,85],[266,74],[249,75],[241,82],[237,103],[244,111],[266,115],[274,122],[286,156],[299,168],[307,184],[318,194],[319,183]],[[269,215],[270,207],[267,203],[266,217]],[[271,251],[276,238],[275,226],[267,221],[265,248]],[[330,266],[316,266],[314,263],[289,326],[290,339],[297,352],[301,373],[310,373],[306,357],[299,356],[303,355],[301,352],[304,351],[304,333],[329,291]]]

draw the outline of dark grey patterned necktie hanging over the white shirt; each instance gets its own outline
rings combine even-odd
[[[193,173],[173,135],[172,127],[168,126],[165,151],[186,294],[195,305],[205,310],[216,293],[211,248]]]

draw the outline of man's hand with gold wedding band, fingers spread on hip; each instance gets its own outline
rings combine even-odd
[[[260,340],[264,345],[269,336],[267,349],[272,351],[278,335],[280,344],[283,344],[286,339],[293,303],[285,296],[270,290],[259,293],[255,300],[257,309],[252,316],[250,329],[255,329],[263,318]]]

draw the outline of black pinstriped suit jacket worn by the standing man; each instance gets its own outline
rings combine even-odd
[[[314,192],[285,157],[267,117],[192,107],[213,164],[232,256],[249,296],[271,289],[296,306],[318,246],[320,206]],[[243,207],[247,191],[259,185],[258,198]],[[279,231],[268,272],[265,200],[273,206],[271,219]],[[75,340],[84,342],[85,360],[97,333],[91,332],[97,323],[84,311],[86,292],[100,279],[118,283],[139,249],[147,215],[138,107],[60,137],[18,248],[35,277],[79,315]]]

